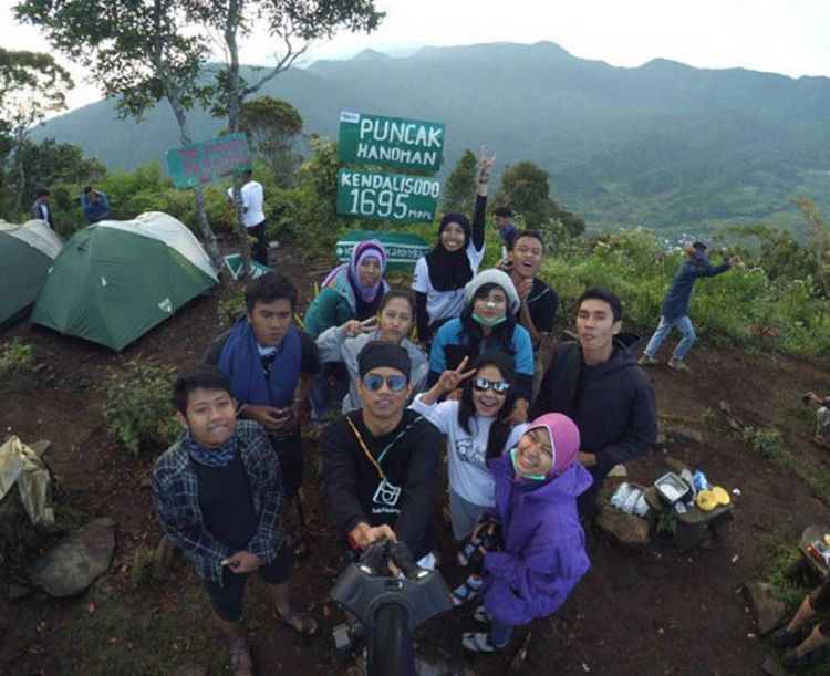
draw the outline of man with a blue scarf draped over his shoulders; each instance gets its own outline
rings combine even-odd
[[[208,347],[205,363],[230,378],[237,415],[256,420],[279,457],[286,501],[302,485],[303,453],[300,414],[320,370],[314,341],[293,325],[297,288],[282,274],[268,273],[245,290],[245,314]],[[299,499],[297,509],[302,521]],[[294,554],[308,550],[289,533]]]

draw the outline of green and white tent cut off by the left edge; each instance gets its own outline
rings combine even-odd
[[[62,246],[45,221],[0,220],[0,324],[35,301]]]

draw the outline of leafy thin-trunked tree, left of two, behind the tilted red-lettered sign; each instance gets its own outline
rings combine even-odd
[[[121,116],[141,119],[163,98],[179,127],[183,145],[193,143],[187,111],[205,101],[200,82],[210,49],[204,32],[191,30],[181,0],[23,0],[19,19],[45,31],[49,41],[81,63],[107,97],[118,98]],[[188,30],[189,29],[189,30]],[[199,230],[221,269],[216,237],[195,188]]]

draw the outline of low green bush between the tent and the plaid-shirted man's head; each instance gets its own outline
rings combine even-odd
[[[102,406],[106,428],[134,454],[143,447],[162,449],[176,440],[173,379],[176,370],[134,358],[112,367],[104,382]]]

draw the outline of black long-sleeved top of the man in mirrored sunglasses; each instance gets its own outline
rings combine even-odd
[[[417,561],[433,547],[433,499],[438,490],[440,433],[417,413],[404,409],[401,424],[375,438],[363,425],[361,410],[349,414],[372,457],[380,460],[388,483],[400,487],[396,500],[381,495],[381,476],[366,458],[345,418],[334,420],[320,437],[323,483],[329,509],[345,541],[349,532],[365,521],[387,524],[406,542]],[[403,433],[403,434],[402,434]]]

